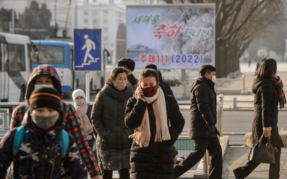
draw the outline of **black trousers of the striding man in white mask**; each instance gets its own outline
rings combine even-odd
[[[191,169],[204,156],[206,149],[211,157],[209,179],[221,179],[222,175],[222,149],[217,137],[194,139],[194,152],[187,156],[181,163],[174,165],[173,174],[180,177]]]

